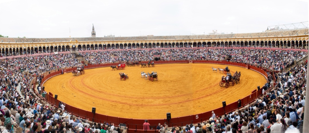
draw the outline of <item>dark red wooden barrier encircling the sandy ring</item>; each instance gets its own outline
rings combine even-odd
[[[155,62],[156,64],[168,64],[168,63],[214,63],[214,64],[224,64],[224,65],[233,65],[233,66],[239,66],[239,67],[244,67],[248,68],[254,71],[259,72],[260,74],[264,75],[266,78],[268,77],[267,72],[269,70],[264,69],[264,68],[258,68],[255,66],[251,66],[249,64],[243,64],[243,63],[238,63],[238,62],[226,62],[226,61],[210,61],[210,60],[180,60],[180,61],[157,61]],[[147,62],[144,62],[147,63]],[[116,66],[118,63],[108,63],[108,64],[95,64],[95,65],[89,65],[89,66],[84,66],[84,69],[91,69],[91,68],[98,68],[98,67],[109,67],[109,66]],[[72,70],[75,70],[76,68],[67,68],[66,72],[70,72]],[[52,71],[50,74],[47,74],[43,79],[42,83],[56,75],[61,74],[61,71]],[[251,103],[254,101],[259,95],[262,94],[262,89],[259,91],[253,90],[252,93],[244,98],[241,99],[241,107],[244,107],[245,105]],[[47,102],[49,102],[51,105],[58,105],[59,100],[54,99],[53,94],[49,92],[47,94]],[[230,103],[226,105],[226,107],[220,107],[217,109],[214,109],[212,111],[216,112],[216,115],[224,115],[225,112],[231,112],[235,111],[236,109],[239,108],[238,101],[235,101],[234,103]],[[144,123],[144,119],[128,119],[128,118],[120,118],[120,117],[113,117],[113,116],[108,116],[108,115],[102,115],[102,114],[93,114],[91,111],[85,111],[82,109],[79,109],[77,107],[70,106],[66,104],[65,110],[68,112],[73,113],[76,116],[80,116],[84,119],[93,119],[93,122],[96,123],[102,123],[104,121],[109,122],[109,123],[114,123],[114,125],[119,125],[120,123],[124,123],[127,125],[127,128],[129,128],[128,132],[130,131],[135,131],[135,132],[147,132],[142,130],[143,126],[141,123]],[[211,117],[211,111],[207,111],[201,114],[195,114],[195,115],[189,115],[189,116],[183,116],[183,117],[177,117],[177,118],[171,118],[170,120],[167,119],[150,119],[150,123],[164,123],[167,122],[169,127],[173,126],[184,126],[188,123],[201,123],[202,121],[208,120]],[[154,126],[154,125],[151,125]],[[151,130],[148,132],[154,132],[155,130]]]

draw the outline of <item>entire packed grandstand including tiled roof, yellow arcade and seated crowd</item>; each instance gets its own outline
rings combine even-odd
[[[226,61],[226,57],[231,57],[230,62],[241,62],[252,66],[262,67],[269,71],[279,71],[269,75],[267,83],[262,87],[263,96],[256,99],[250,105],[246,105],[240,110],[230,112],[225,116],[210,116],[209,120],[203,123],[192,124],[183,127],[162,127],[155,128],[159,132],[289,132],[291,130],[302,129],[304,115],[307,60],[295,64],[308,54],[308,38],[295,40],[277,39],[269,41],[256,41],[255,37],[289,37],[308,34],[308,29],[286,30],[262,33],[246,34],[225,34],[225,35],[193,35],[193,36],[147,36],[147,37],[113,37],[113,38],[0,38],[1,45],[1,72],[0,84],[2,95],[0,95],[1,114],[0,120],[3,122],[3,129],[11,132],[120,132],[117,125],[108,123],[95,123],[91,125],[85,120],[74,116],[65,110],[65,107],[53,107],[46,104],[43,99],[47,93],[42,88],[33,87],[32,79],[37,79],[37,84],[41,84],[41,75],[47,71],[59,70],[74,66],[84,65],[78,57],[83,58],[88,64],[102,64],[111,62],[127,61],[149,61],[154,60],[153,55],[160,55],[156,60],[216,60]],[[188,41],[192,45],[181,47],[176,43],[167,42],[157,49],[145,45],[144,41],[136,40],[169,40],[169,39],[213,39],[217,38],[247,38],[247,41]],[[251,39],[252,38],[252,39]],[[67,47],[60,45],[54,47],[49,42],[72,42],[75,41],[76,49],[72,44]],[[92,45],[95,42],[87,41],[121,41],[131,40],[135,42],[125,47],[124,42],[108,45]],[[73,42],[74,42],[73,41]],[[77,42],[85,41],[85,45]],[[31,42],[30,44],[23,44]],[[40,42],[46,43],[41,44]],[[143,43],[144,42],[144,43]],[[150,41],[154,42],[154,41]],[[194,43],[195,42],[195,43]],[[210,43],[208,43],[210,42]],[[214,42],[214,43],[213,43]],[[219,43],[217,43],[219,42]],[[223,43],[222,43],[223,42]],[[226,43],[227,42],[227,43]],[[231,43],[230,43],[231,42]],[[235,42],[235,43],[234,43]],[[261,44],[263,42],[263,44]],[[281,43],[282,42],[282,43]],[[29,46],[32,45],[40,46]],[[38,43],[38,44],[36,44]],[[39,44],[40,43],[40,44]],[[123,50],[104,50],[118,49]],[[141,45],[141,44],[144,45]],[[273,45],[265,45],[273,44]],[[139,44],[139,45],[137,45]],[[195,44],[195,45],[194,45]],[[204,45],[203,45],[204,44]],[[233,46],[234,44],[234,46]],[[235,45],[236,44],[236,45]],[[13,47],[14,48],[13,48]],[[80,46],[80,47],[79,47]],[[105,46],[105,47],[104,47]],[[147,47],[146,47],[147,46]],[[151,46],[151,47],[149,47]],[[52,49],[55,48],[55,49]],[[187,47],[184,48],[184,47]],[[189,49],[191,47],[191,49]],[[204,47],[204,48],[201,48]],[[225,48],[227,47],[227,48]],[[236,49],[243,47],[242,49]],[[245,48],[246,47],[246,48]],[[257,48],[259,47],[259,48]],[[267,47],[280,49],[264,49]],[[125,48],[129,48],[124,50]],[[145,49],[142,49],[145,48]],[[146,49],[147,48],[147,49]],[[201,49],[198,49],[201,48]],[[281,49],[290,48],[290,49]],[[80,50],[78,52],[78,50]],[[85,51],[84,51],[85,50]],[[91,51],[92,50],[92,51]],[[59,53],[57,53],[57,52]],[[68,51],[68,52],[64,52]],[[73,52],[75,51],[75,52]],[[77,52],[76,52],[77,51]],[[83,51],[83,52],[82,52]],[[72,52],[72,53],[71,53]],[[76,54],[78,53],[78,54]],[[115,58],[115,56],[117,58]],[[289,68],[289,69],[288,69]],[[273,86],[273,83],[275,86]],[[32,89],[37,88],[37,89]],[[21,93],[19,93],[21,92]],[[36,92],[36,93],[35,93]],[[41,95],[38,96],[37,94]],[[64,108],[64,110],[61,109]],[[216,113],[216,112],[214,112]],[[104,120],[103,120],[104,121]],[[15,124],[16,123],[16,124]],[[151,123],[152,125],[157,123]],[[13,127],[12,127],[13,125]],[[93,125],[93,126],[92,126]],[[1,128],[2,128],[1,127]],[[117,129],[118,127],[118,129]],[[146,128],[146,130],[150,130]],[[191,132],[191,133],[192,133]]]

